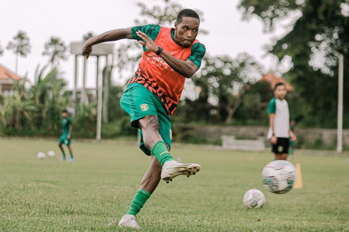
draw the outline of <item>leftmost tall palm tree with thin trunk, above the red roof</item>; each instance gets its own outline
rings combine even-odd
[[[18,33],[13,36],[13,41],[9,41],[6,47],[8,50],[12,50],[16,55],[15,71],[18,71],[18,56],[26,57],[30,53],[31,45],[29,37],[25,31],[19,30]]]

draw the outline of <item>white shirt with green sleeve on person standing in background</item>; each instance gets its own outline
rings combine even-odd
[[[280,100],[276,97],[271,99],[268,104],[268,112],[269,114],[275,114],[274,119],[274,130],[275,136],[278,138],[288,138],[289,128],[290,128],[290,113],[288,109],[288,104],[285,99]],[[271,132],[271,128],[269,128],[269,134]],[[268,137],[271,137],[268,135]]]

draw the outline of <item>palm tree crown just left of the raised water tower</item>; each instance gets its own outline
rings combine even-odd
[[[51,36],[49,41],[45,43],[44,48],[42,54],[49,57],[51,70],[59,64],[60,59],[67,59],[67,47],[59,37]]]

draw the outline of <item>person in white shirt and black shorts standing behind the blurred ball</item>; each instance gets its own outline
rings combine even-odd
[[[275,97],[270,100],[269,110],[269,131],[268,138],[272,143],[272,152],[275,160],[287,160],[289,152],[289,138],[296,141],[296,136],[290,128],[290,114],[285,96],[287,93],[286,84],[278,82],[274,87]]]

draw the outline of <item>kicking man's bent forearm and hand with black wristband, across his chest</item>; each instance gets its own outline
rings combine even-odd
[[[157,52],[159,47],[154,43],[154,41],[142,31],[137,31],[136,34],[140,36],[144,41],[139,40],[139,42],[147,48],[149,51]],[[170,65],[174,69],[174,71],[178,72],[180,75],[185,76],[186,78],[190,78],[197,71],[198,67],[194,64],[194,62],[187,60],[181,60],[175,58],[170,53],[166,51],[161,51],[160,57],[165,60],[166,63]]]

